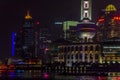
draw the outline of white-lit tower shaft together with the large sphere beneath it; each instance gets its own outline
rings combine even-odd
[[[78,37],[84,41],[92,41],[96,33],[96,24],[92,20],[92,0],[81,0],[81,22],[77,25]]]

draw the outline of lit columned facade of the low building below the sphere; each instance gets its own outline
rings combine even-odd
[[[65,62],[67,66],[73,63],[99,63],[101,47],[99,44],[73,44],[58,46],[58,61]]]

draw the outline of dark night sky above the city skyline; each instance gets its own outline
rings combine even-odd
[[[60,20],[79,20],[81,0],[0,0],[0,58],[11,54],[11,33],[17,31],[27,10],[34,19],[50,24]],[[120,0],[93,0],[93,16],[96,20],[101,9]],[[118,4],[117,4],[118,3]]]

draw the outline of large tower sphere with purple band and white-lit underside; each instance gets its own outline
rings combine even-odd
[[[79,38],[92,39],[95,36],[96,27],[92,22],[81,22],[77,25],[76,32]]]

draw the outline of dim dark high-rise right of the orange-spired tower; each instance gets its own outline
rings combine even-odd
[[[38,31],[38,46],[39,46],[39,56],[42,59],[42,63],[48,63],[50,62],[50,44],[52,42],[51,40],[51,31],[49,26],[44,25],[38,25],[39,31]]]

